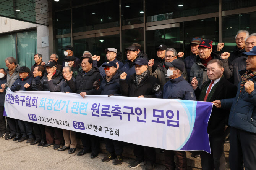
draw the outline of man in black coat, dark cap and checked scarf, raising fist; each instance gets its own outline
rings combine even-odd
[[[148,61],[146,59],[138,59],[133,63],[135,71],[130,79],[127,80],[127,74],[123,72],[120,75],[120,89],[123,96],[128,97],[155,97],[155,93],[160,91],[160,84],[157,78],[150,75],[147,70]],[[156,86],[157,88],[154,88]],[[134,145],[135,161],[130,165],[131,168],[136,168],[140,165],[145,165],[144,147]],[[146,170],[153,170],[153,164],[156,162],[155,148],[145,147],[145,160],[147,161]]]

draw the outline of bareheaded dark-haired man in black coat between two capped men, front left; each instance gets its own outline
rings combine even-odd
[[[44,73],[44,67],[42,65],[37,65],[34,68],[34,71],[33,71],[34,78],[32,79],[31,83],[30,84],[26,83],[24,85],[26,91],[38,91],[36,81],[40,82],[40,80],[44,76],[43,73]],[[31,142],[30,145],[36,145],[37,143],[38,143],[37,146],[45,145],[46,144],[45,126],[42,124],[33,123],[33,130],[34,130],[36,139],[33,142]]]

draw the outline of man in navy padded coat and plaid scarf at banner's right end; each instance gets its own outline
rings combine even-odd
[[[241,81],[235,98],[215,100],[217,108],[230,109],[230,169],[251,170],[256,167],[256,46],[245,52],[246,69],[241,70]]]

